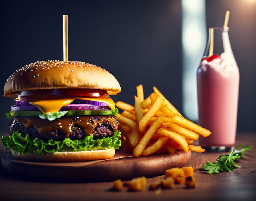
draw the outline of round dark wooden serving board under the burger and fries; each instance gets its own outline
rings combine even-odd
[[[116,154],[120,154],[119,150]],[[125,154],[124,154],[125,155]],[[154,177],[165,174],[165,170],[183,167],[191,156],[191,151],[176,151],[174,154],[157,154],[136,158],[126,154],[125,158],[88,162],[36,162],[13,158],[6,154],[2,158],[3,167],[18,177],[43,181],[96,182],[130,180],[138,176]],[[115,157],[115,156],[114,156]]]

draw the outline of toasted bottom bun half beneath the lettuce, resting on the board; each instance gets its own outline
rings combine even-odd
[[[77,152],[55,152],[45,153],[42,155],[27,152],[24,155],[17,150],[12,149],[13,158],[22,160],[34,160],[45,162],[75,162],[75,161],[87,161],[87,160],[102,160],[113,158],[115,155],[115,149],[95,150],[95,151],[77,151]]]

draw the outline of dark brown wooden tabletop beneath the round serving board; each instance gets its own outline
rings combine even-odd
[[[131,192],[125,187],[122,191],[112,190],[112,182],[102,183],[58,183],[20,180],[12,177],[2,166],[0,173],[1,200],[255,200],[256,197],[256,133],[237,134],[236,146],[253,145],[249,152],[236,163],[242,168],[234,172],[206,174],[201,165],[207,160],[214,162],[222,153],[192,153],[186,166],[193,166],[196,187],[185,188],[175,185],[174,189],[162,190],[157,194],[149,190],[152,182],[163,176],[147,179],[147,188],[141,192]],[[7,153],[0,146],[0,154]],[[40,172],[38,172],[40,174]],[[72,172],[70,173],[72,174]],[[85,172],[84,174],[90,174]],[[65,175],[63,175],[65,177]]]

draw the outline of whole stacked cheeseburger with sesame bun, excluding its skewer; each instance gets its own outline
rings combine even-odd
[[[38,61],[15,71],[4,96],[15,99],[9,137],[14,158],[86,161],[112,158],[121,141],[115,103],[121,91],[106,70],[78,61]]]

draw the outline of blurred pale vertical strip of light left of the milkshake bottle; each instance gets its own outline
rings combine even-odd
[[[206,44],[205,0],[182,0],[183,114],[197,121],[196,70]]]

